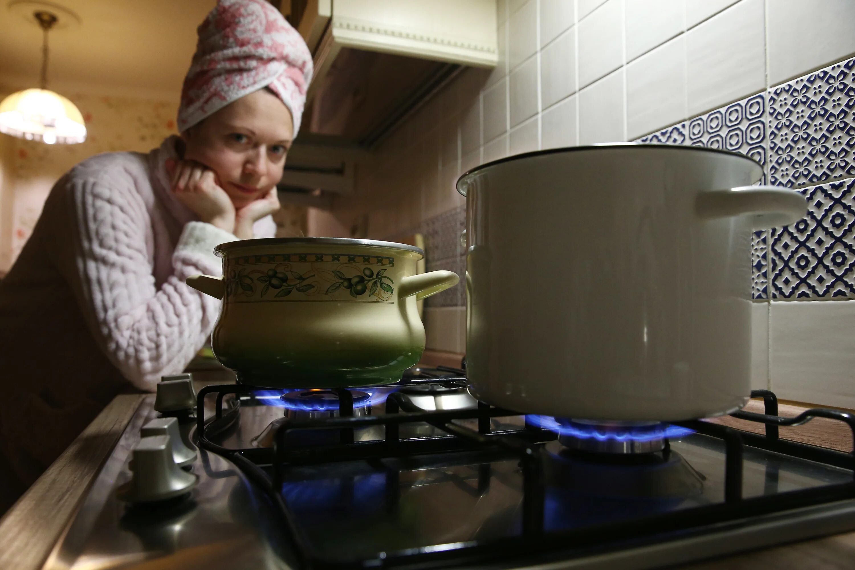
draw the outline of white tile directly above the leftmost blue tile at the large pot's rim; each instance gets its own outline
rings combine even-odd
[[[686,42],[681,36],[627,66],[627,136],[639,138],[686,116]]]

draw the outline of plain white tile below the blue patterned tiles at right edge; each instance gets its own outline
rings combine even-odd
[[[855,408],[855,301],[772,302],[772,389],[785,400]]]

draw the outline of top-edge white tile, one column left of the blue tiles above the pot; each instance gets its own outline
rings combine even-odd
[[[579,86],[623,64],[623,0],[609,0],[579,22]]]

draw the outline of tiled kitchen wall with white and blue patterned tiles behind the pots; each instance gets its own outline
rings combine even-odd
[[[463,273],[471,167],[636,139],[743,152],[811,207],[753,238],[753,384],[855,408],[852,22],[850,0],[501,0],[498,68],[392,133],[310,235],[422,232],[428,269]],[[465,351],[464,304],[462,286],[427,300],[428,348]]]

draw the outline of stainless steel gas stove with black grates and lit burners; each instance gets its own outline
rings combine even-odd
[[[855,430],[852,414],[785,419],[774,394],[752,397],[765,414],[733,415],[765,435],[520,414],[453,368],[350,390],[208,386],[195,413],[165,413],[198,446],[198,482],[122,501],[128,462],[157,443],[139,430],[164,415],[140,408],[46,567],[647,568],[855,529],[853,455],[777,433],[814,417]]]

